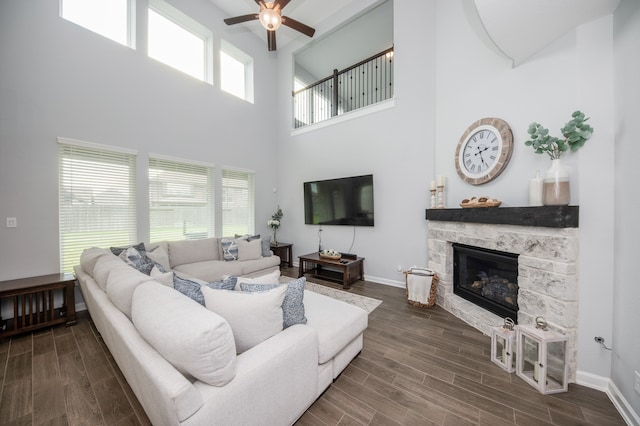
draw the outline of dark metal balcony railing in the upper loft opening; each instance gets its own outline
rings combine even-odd
[[[393,47],[293,92],[296,129],[393,97]]]

